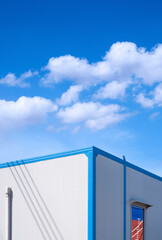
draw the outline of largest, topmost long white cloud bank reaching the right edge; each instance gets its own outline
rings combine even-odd
[[[117,42],[102,61],[90,64],[87,59],[65,55],[51,58],[45,69],[48,73],[42,78],[44,85],[63,80],[81,85],[96,85],[112,80],[130,83],[140,81],[152,85],[162,81],[162,45],[146,51],[131,42]]]

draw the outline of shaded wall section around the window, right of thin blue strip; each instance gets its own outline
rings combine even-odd
[[[137,200],[152,205],[144,210],[144,239],[162,239],[162,182],[150,176],[126,169],[127,179],[127,239],[131,239],[131,200]]]

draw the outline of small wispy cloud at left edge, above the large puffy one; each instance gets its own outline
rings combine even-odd
[[[32,72],[29,70],[28,72],[21,74],[18,78],[14,73],[8,73],[4,78],[0,79],[0,84],[7,85],[9,87],[29,87],[30,84],[26,82],[26,79],[31,78],[37,74],[37,71]]]

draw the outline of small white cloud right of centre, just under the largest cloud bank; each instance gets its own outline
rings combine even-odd
[[[94,97],[96,99],[117,99],[117,98],[123,98],[125,96],[125,90],[129,84],[127,82],[117,82],[113,81],[106,86],[101,87],[96,94],[94,94]]]

